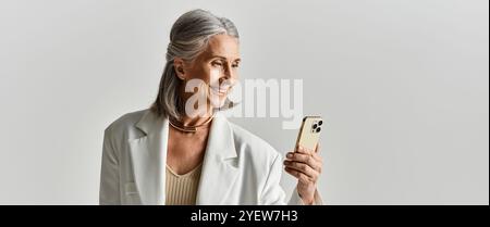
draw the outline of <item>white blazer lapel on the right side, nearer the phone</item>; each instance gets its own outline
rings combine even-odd
[[[237,176],[237,154],[233,130],[226,117],[218,112],[212,119],[208,136],[196,204],[225,204],[224,199],[229,197]]]

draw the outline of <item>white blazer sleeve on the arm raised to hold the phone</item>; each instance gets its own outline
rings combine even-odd
[[[282,169],[283,169],[282,168],[282,159],[281,159],[281,155],[278,153],[275,155],[274,161],[272,162],[272,165],[269,171],[269,176],[267,177],[265,187],[260,194],[260,204],[261,205],[285,205],[285,204],[287,204],[287,205],[305,205],[302,198],[299,197],[299,193],[296,190],[296,187],[294,188],[289,202],[287,203],[285,202],[285,192],[280,185],[281,174],[283,172]],[[314,205],[322,205],[322,204],[323,204],[323,202],[317,190],[317,191],[315,191]]]

